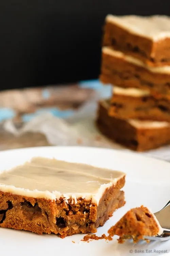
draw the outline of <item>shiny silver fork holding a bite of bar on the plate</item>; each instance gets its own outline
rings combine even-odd
[[[170,201],[164,208],[154,213],[160,226],[163,228],[163,233],[156,237],[147,237],[149,240],[166,241],[170,239]]]

